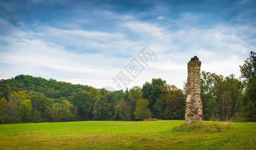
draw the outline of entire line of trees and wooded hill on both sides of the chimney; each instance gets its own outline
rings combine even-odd
[[[256,54],[235,78],[201,72],[204,120],[256,121]],[[152,78],[142,87],[108,91],[30,75],[0,80],[0,123],[82,120],[184,119],[183,90]]]

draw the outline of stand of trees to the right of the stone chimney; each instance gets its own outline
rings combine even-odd
[[[204,120],[256,121],[256,53],[239,67],[239,78],[201,72]]]

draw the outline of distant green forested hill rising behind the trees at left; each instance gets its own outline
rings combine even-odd
[[[6,99],[8,99],[11,92],[18,92],[19,90],[45,93],[45,96],[48,98],[68,98],[72,92],[89,91],[90,88],[92,87],[88,85],[72,84],[64,81],[56,81],[52,78],[45,79],[23,74],[10,79],[1,79],[0,81],[1,97],[5,97]]]

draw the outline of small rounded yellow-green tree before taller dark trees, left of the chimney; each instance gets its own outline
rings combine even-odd
[[[149,102],[146,99],[138,99],[136,101],[136,108],[133,112],[136,119],[144,120],[151,117],[150,109],[148,108]]]

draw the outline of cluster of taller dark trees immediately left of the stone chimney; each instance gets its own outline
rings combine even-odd
[[[151,83],[143,84],[141,91],[143,97],[149,102],[153,117],[184,119],[184,95],[175,85],[166,84],[166,81],[161,78],[152,78]]]

